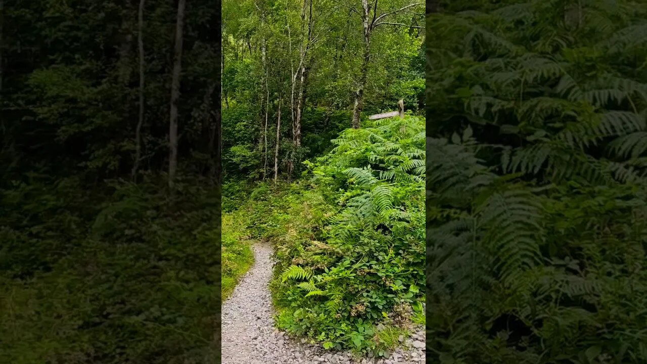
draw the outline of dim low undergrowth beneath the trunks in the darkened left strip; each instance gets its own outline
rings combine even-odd
[[[0,190],[0,362],[217,362],[216,190],[180,180],[169,200],[150,181],[12,182]]]

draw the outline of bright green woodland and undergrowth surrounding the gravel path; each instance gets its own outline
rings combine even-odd
[[[424,55],[422,2],[223,2],[223,298],[269,242],[292,339],[388,357],[424,323]]]

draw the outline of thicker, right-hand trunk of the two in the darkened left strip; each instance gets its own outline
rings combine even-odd
[[[177,172],[177,102],[180,98],[180,76],[182,71],[182,30],[184,28],[184,7],[186,0],[177,4],[177,23],[175,24],[175,51],[173,52],[173,79],[171,81],[171,115],[169,122],[169,159],[168,187],[175,187]]]

